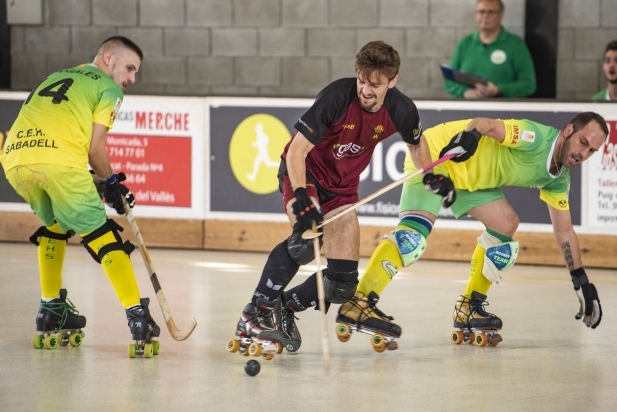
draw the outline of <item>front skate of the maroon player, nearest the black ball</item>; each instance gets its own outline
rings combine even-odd
[[[289,337],[274,329],[272,310],[278,301],[257,298],[257,305],[246,305],[236,325],[236,335],[227,342],[229,352],[242,356],[263,356],[270,360],[284,349],[283,341]]]

